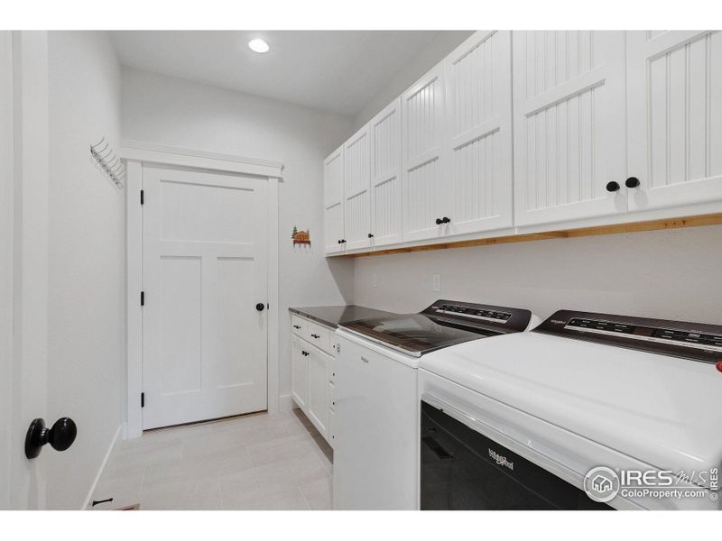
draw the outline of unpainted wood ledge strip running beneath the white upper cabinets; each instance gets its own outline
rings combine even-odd
[[[401,248],[388,248],[370,252],[346,253],[340,257],[369,257],[387,255],[392,253],[429,252],[431,250],[449,250],[451,248],[468,248],[470,246],[488,246],[490,244],[529,243],[532,241],[546,241],[550,239],[569,239],[600,234],[637,233],[642,231],[659,231],[662,229],[683,229],[687,227],[702,227],[705,225],[722,225],[722,213],[682,216],[677,218],[662,218],[643,222],[629,222],[625,224],[596,225],[594,227],[579,227],[576,229],[561,229],[545,231],[542,233],[509,234],[486,239],[472,239],[466,241],[451,241],[448,243],[425,244],[422,246],[406,246]]]

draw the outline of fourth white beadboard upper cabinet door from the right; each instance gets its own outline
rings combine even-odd
[[[444,234],[438,225],[448,211],[448,168],[443,149],[443,62],[402,96],[403,240],[419,241]]]

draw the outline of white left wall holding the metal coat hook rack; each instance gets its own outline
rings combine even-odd
[[[125,390],[124,194],[91,159],[120,142],[120,66],[105,32],[50,33],[49,424],[78,439],[50,446],[48,509],[79,509],[121,425]]]

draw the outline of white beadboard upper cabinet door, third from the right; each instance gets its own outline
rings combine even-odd
[[[476,32],[446,60],[449,234],[511,227],[511,32]]]

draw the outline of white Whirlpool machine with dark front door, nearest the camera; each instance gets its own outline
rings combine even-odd
[[[720,509],[722,326],[561,310],[421,359],[421,509]]]

